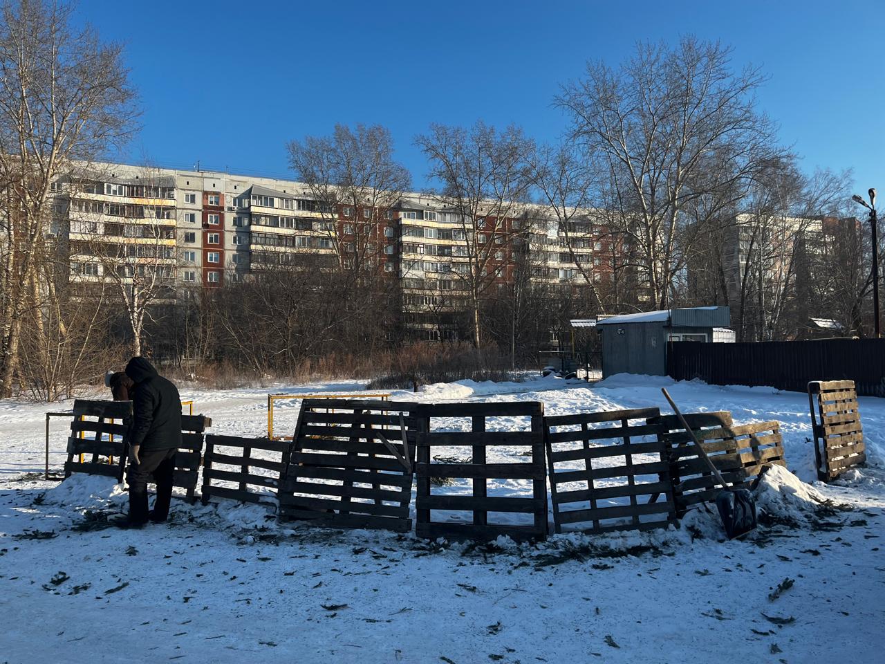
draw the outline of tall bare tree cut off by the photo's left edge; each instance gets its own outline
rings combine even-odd
[[[37,282],[51,183],[73,160],[89,161],[135,129],[121,53],[91,27],[73,27],[69,4],[7,0],[0,8],[0,396],[12,394],[21,321],[35,305],[28,284]]]

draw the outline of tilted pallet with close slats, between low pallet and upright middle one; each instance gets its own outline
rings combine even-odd
[[[304,399],[281,483],[281,521],[412,529],[414,404]]]

